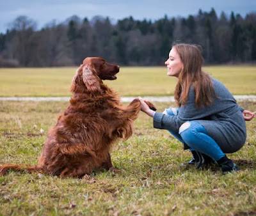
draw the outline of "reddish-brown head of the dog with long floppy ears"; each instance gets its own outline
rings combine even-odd
[[[88,57],[77,69],[70,91],[83,92],[85,87],[88,91],[100,91],[102,80],[115,80],[119,68],[118,65],[109,64],[102,58]]]

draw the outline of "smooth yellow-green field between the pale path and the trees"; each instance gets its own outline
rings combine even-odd
[[[256,66],[207,66],[234,95],[256,95]],[[0,68],[0,96],[70,96],[76,67]],[[121,96],[173,95],[177,79],[165,66],[121,67],[116,81],[105,81]]]

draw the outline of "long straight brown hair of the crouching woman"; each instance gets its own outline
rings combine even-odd
[[[211,77],[202,71],[204,59],[202,57],[202,48],[199,45],[190,45],[178,43],[173,45],[183,63],[183,69],[179,74],[179,81],[176,85],[174,98],[180,106],[188,102],[188,93],[190,86],[195,91],[196,107],[211,105],[216,93],[213,88]]]

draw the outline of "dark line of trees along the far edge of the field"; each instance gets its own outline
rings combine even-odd
[[[115,24],[108,17],[73,16],[40,30],[34,20],[19,16],[0,34],[0,66],[80,65],[88,56],[120,65],[163,65],[173,42],[201,45],[207,64],[255,62],[256,13],[218,17],[212,8],[186,18],[128,17]]]

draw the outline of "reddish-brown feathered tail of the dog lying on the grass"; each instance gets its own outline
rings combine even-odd
[[[40,173],[43,171],[42,167],[40,166],[29,166],[27,164],[4,164],[0,166],[0,173],[1,175],[4,175],[6,171],[8,170],[14,170],[14,171],[28,171],[29,173]]]

